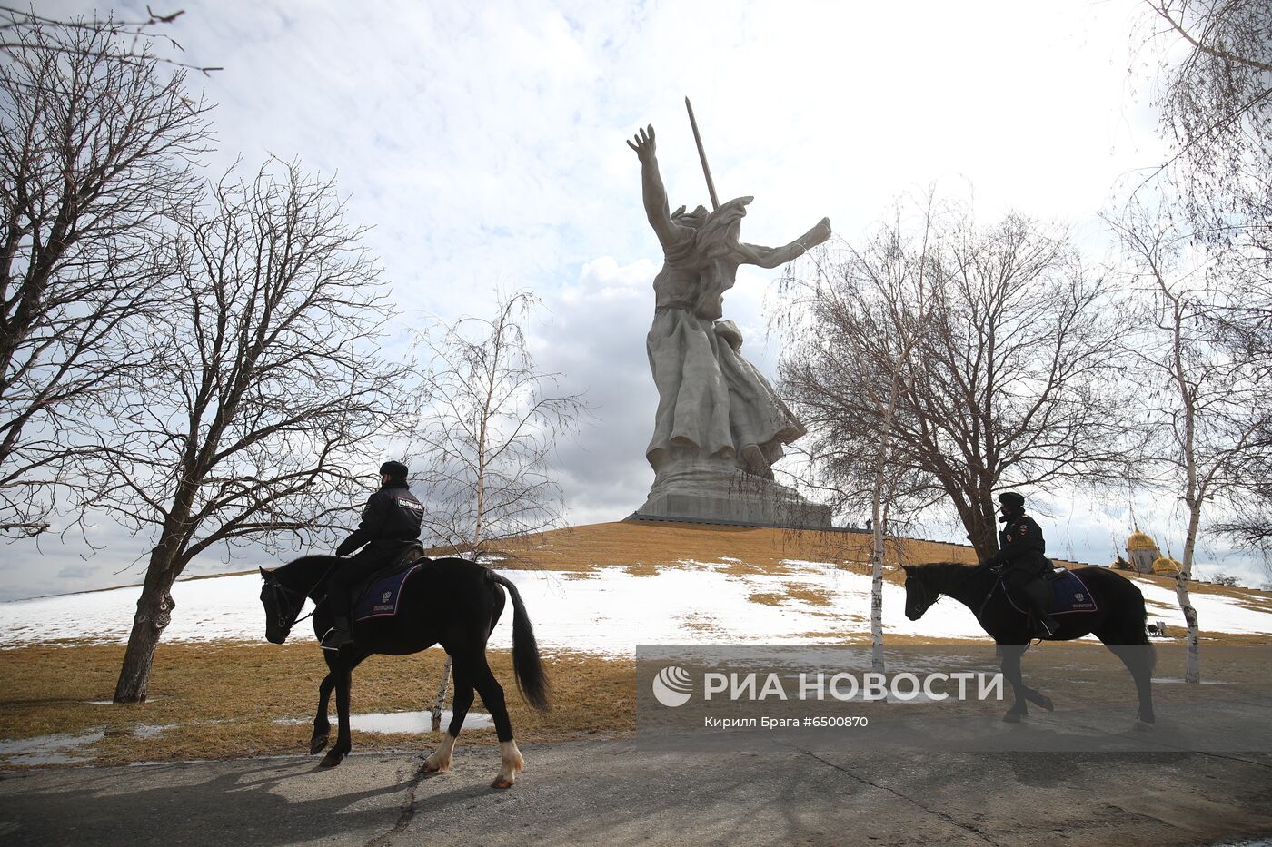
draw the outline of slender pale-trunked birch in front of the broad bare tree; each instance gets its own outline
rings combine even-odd
[[[929,192],[922,223],[909,233],[907,210],[898,203],[861,249],[845,244],[833,262],[815,262],[813,273],[789,271],[784,294],[794,295],[785,312],[790,346],[781,362],[781,388],[813,424],[808,457],[812,476],[805,486],[829,493],[832,509],[843,511],[869,497],[871,553],[871,665],[885,668],[883,652],[883,567],[892,506],[925,505],[930,496],[893,445],[893,424],[904,393],[913,390],[912,357],[929,324],[931,303],[927,253],[934,193]],[[854,371],[856,402],[869,407],[879,429],[869,455],[850,455],[838,443],[845,411],[840,380]],[[799,448],[796,448],[799,449]],[[901,459],[901,460],[898,460]],[[866,467],[869,464],[869,468]]]

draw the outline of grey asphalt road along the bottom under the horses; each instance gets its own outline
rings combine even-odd
[[[684,753],[632,741],[0,773],[4,844],[1212,844],[1272,834],[1272,754]]]

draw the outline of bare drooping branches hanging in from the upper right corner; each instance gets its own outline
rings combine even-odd
[[[1221,294],[1207,295],[1199,309],[1207,347],[1244,361],[1245,379],[1266,396],[1272,389],[1272,6],[1264,0],[1146,5],[1144,41],[1160,69],[1161,130],[1175,155],[1145,184],[1178,196],[1172,202],[1183,223],[1154,233],[1161,221],[1140,210],[1123,225],[1130,230],[1123,240],[1141,257],[1165,251],[1175,265],[1180,238],[1205,248],[1211,293]],[[1194,294],[1189,289],[1191,301]],[[1272,464],[1262,458],[1272,448],[1272,425],[1259,427],[1257,444],[1243,450],[1243,496],[1216,525],[1255,554],[1272,541]]]

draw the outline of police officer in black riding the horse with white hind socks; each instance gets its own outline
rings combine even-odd
[[[380,465],[379,490],[366,501],[357,529],[336,548],[337,556],[347,556],[359,547],[363,549],[341,563],[327,584],[327,604],[336,626],[322,637],[323,650],[338,650],[354,642],[349,623],[349,604],[352,599],[350,593],[354,586],[420,537],[424,506],[411,493],[406,481],[408,473],[401,462],[385,462]]]

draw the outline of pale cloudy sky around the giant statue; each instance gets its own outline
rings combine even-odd
[[[155,11],[170,11],[155,5]],[[99,14],[106,6],[97,6]],[[597,420],[563,445],[571,523],[617,520],[653,482],[656,392],[645,357],[661,262],[625,140],[658,130],[672,206],[707,203],[684,114],[693,99],[721,200],[754,195],[744,240],[781,244],[823,215],[852,240],[893,198],[936,183],[991,221],[1071,225],[1098,261],[1116,184],[1163,160],[1131,0],[1019,3],[434,3],[182,0],[170,29],[216,103],[211,173],[268,155],[335,174],[403,326],[488,312],[494,289],[546,303],[538,361],[586,390]],[[92,3],[45,1],[45,14]],[[144,18],[144,4],[116,6]],[[725,298],[744,352],[773,373],[776,271],[743,267]],[[378,464],[368,457],[368,464]],[[1038,492],[1039,495],[1042,492]],[[1107,563],[1119,502],[1039,502],[1058,556]],[[1040,500],[1040,497],[1039,497]],[[1141,511],[1146,511],[1141,509]],[[350,511],[351,525],[357,507]],[[1170,509],[1138,514],[1178,556]],[[109,524],[3,551],[0,596],[137,581],[146,549]],[[962,541],[951,524],[923,528]],[[1210,547],[1199,561],[1216,560]],[[188,572],[257,561],[209,556]],[[1231,570],[1238,566],[1229,561]]]

